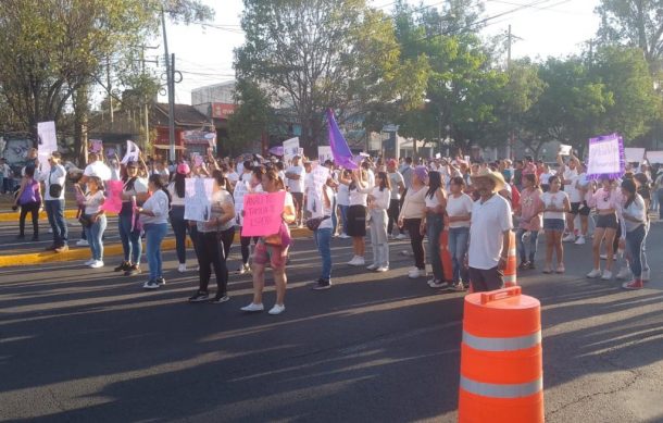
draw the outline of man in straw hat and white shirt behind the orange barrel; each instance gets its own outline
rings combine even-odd
[[[511,206],[498,195],[504,188],[504,177],[485,167],[472,175],[472,184],[480,198],[472,207],[467,251],[470,281],[475,291],[500,289],[509,252],[509,233],[513,228]]]

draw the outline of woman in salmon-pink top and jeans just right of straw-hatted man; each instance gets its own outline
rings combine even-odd
[[[518,229],[515,234],[515,241],[521,257],[520,270],[535,269],[534,259],[537,252],[539,231],[541,229],[541,213],[543,202],[536,173],[528,173],[522,178],[523,190],[521,191],[520,207],[516,215],[520,217]],[[525,247],[525,236],[529,239],[529,253]]]

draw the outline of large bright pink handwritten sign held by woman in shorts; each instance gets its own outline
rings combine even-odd
[[[245,195],[241,236],[267,236],[278,233],[285,202],[286,191]]]

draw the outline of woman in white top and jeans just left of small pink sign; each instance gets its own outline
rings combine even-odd
[[[79,185],[76,185],[77,189],[82,189]],[[105,197],[103,196],[103,185],[101,179],[97,176],[89,176],[87,178],[87,192],[85,194],[85,210],[80,216],[80,224],[83,225],[88,244],[90,245],[90,252],[92,257],[90,260],[85,262],[85,265],[91,269],[103,268],[103,232],[107,227],[105,212],[101,210]]]

